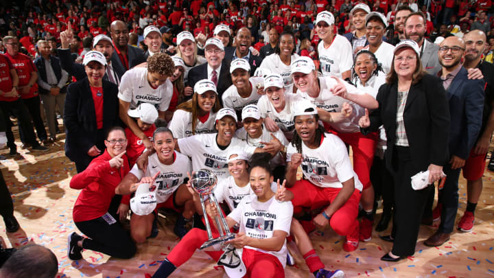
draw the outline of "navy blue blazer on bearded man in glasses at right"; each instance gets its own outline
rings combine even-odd
[[[484,80],[469,80],[462,67],[446,90],[451,125],[449,154],[467,159],[477,141],[484,109]]]

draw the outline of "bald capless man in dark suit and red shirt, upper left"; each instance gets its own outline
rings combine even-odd
[[[115,71],[128,71],[145,62],[144,53],[138,47],[128,44],[128,27],[123,21],[113,21],[110,25],[110,35],[115,46],[112,54]]]

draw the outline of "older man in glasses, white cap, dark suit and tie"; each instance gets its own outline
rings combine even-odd
[[[216,84],[218,99],[222,100],[224,91],[232,85],[230,62],[224,60],[225,51],[222,41],[209,38],[204,44],[204,56],[206,56],[207,63],[193,67],[189,71],[187,86],[193,88],[199,80],[211,80]]]

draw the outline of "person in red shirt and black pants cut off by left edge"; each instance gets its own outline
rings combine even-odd
[[[17,86],[19,86],[19,77],[17,71],[12,66],[10,60],[3,54],[0,54],[0,109],[3,115],[14,115],[19,120],[19,124],[24,127],[26,138],[32,143],[33,150],[45,150],[40,146],[30,123],[29,114],[20,99]],[[12,123],[8,117],[4,117],[6,125],[7,146],[10,148],[10,155],[17,154],[17,146],[15,144],[14,133],[12,133]]]

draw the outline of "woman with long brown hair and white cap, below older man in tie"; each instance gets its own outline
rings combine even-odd
[[[176,139],[213,133],[215,116],[220,109],[215,84],[207,79],[200,80],[194,86],[192,100],[177,107],[168,128]]]

